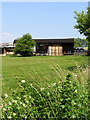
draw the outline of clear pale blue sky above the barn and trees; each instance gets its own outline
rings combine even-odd
[[[86,11],[88,2],[3,2],[2,42],[25,33],[32,38],[84,38],[74,29],[74,11]]]

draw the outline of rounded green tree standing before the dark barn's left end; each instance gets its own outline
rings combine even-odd
[[[18,38],[16,46],[14,48],[15,54],[21,54],[22,56],[29,56],[33,52],[33,47],[35,46],[34,40],[29,33],[23,35],[23,37]]]

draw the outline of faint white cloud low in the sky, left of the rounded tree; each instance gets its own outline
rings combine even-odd
[[[2,37],[0,37],[0,42],[7,43],[7,42],[13,42],[14,39],[19,38],[20,35],[15,35],[8,32],[2,32]]]

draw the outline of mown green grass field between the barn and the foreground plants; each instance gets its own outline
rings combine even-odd
[[[9,88],[16,89],[18,81],[21,80],[36,86],[48,87],[64,78],[75,66],[87,64],[87,56],[2,57],[2,93],[10,94]]]

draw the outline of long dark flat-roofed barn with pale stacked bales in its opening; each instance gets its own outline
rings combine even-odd
[[[67,55],[74,52],[74,38],[69,39],[33,39],[36,42],[35,51],[48,55]]]

